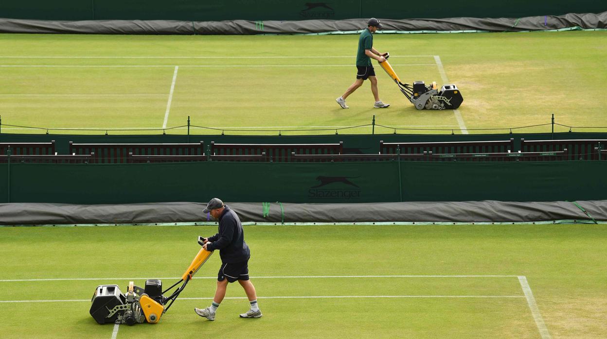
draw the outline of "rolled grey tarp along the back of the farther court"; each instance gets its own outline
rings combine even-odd
[[[368,19],[368,18],[367,18]],[[256,35],[358,33],[367,19],[304,21],[46,21],[0,19],[0,33]],[[526,18],[381,19],[380,33],[524,32],[607,29],[607,12]]]

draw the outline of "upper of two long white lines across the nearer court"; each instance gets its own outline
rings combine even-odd
[[[518,275],[271,275],[265,277],[250,277],[251,279],[293,279],[293,278],[513,278]],[[181,279],[169,278],[38,278],[38,279],[4,279],[0,283],[15,281],[64,281],[64,280],[148,280],[148,279]],[[194,277],[194,279],[217,279],[217,277]]]

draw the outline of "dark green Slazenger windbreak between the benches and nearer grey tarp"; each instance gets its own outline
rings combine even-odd
[[[607,161],[0,164],[0,203],[603,200]]]

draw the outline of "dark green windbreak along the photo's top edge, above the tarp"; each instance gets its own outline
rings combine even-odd
[[[291,21],[350,18],[521,18],[534,15],[599,13],[598,0],[2,0],[0,18],[45,20],[181,20],[181,21]]]

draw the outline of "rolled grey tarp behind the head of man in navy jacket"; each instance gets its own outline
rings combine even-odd
[[[361,204],[226,203],[251,223],[533,223],[607,221],[607,200]],[[168,224],[215,220],[203,203],[0,204],[0,225]]]

